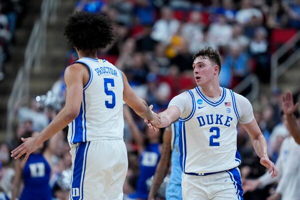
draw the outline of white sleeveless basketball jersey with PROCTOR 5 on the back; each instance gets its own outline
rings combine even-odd
[[[76,61],[89,69],[78,116],[69,123],[70,144],[98,139],[123,139],[123,79],[120,70],[105,59],[83,57]]]

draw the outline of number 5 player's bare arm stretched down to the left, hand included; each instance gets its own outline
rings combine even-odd
[[[21,138],[23,143],[11,152],[12,157],[17,159],[26,154],[24,158],[26,161],[29,154],[43,141],[59,132],[78,115],[82,100],[83,74],[86,70],[86,67],[82,67],[81,64],[72,64],[65,69],[64,80],[67,87],[65,106],[37,136]]]

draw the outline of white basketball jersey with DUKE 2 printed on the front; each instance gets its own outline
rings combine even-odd
[[[192,111],[186,118],[179,118],[182,171],[201,175],[238,166],[236,124],[239,115],[234,92],[222,87],[222,96],[217,102],[207,99],[198,87],[188,92]]]

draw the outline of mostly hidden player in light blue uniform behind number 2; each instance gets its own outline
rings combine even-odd
[[[179,122],[171,123],[163,132],[163,143],[161,148],[161,157],[156,167],[148,200],[154,200],[157,189],[160,187],[163,178],[166,176],[168,166],[171,160],[170,181],[165,190],[165,198],[167,200],[182,199],[181,193],[181,168],[179,163]],[[171,156],[170,156],[171,155]]]

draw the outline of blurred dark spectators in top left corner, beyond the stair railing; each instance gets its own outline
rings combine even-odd
[[[14,30],[24,13],[26,0],[0,0],[0,80],[4,78],[3,62],[10,59],[9,45],[15,43]]]

